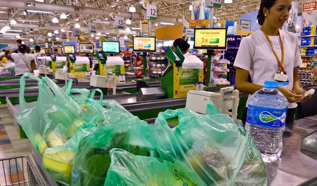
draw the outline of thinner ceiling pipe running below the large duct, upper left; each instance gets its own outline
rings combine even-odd
[[[5,23],[0,23],[0,27],[4,27],[6,26]],[[41,26],[41,27],[40,27]],[[20,27],[20,28],[33,28],[33,29],[38,29],[38,30],[61,30],[61,29],[64,29],[64,30],[68,30],[66,28],[66,26],[55,26],[55,25],[44,25],[44,27],[42,27],[42,25],[38,25],[38,24],[27,24],[27,23],[16,23],[14,25],[14,27]],[[80,28],[81,32],[90,32],[88,30],[88,27],[84,27],[82,26]],[[100,29],[100,28],[97,28],[97,33],[100,32],[100,33],[110,33],[110,34],[116,34],[116,30],[113,29],[113,28],[109,28],[109,29]],[[126,31],[124,29],[119,29],[119,34],[128,34],[128,35],[137,35],[137,31],[134,31],[134,30],[131,30],[131,31]],[[40,35],[40,34],[39,34]]]

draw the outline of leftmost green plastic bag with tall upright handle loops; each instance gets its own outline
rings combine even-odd
[[[35,102],[25,102],[26,77],[39,81]],[[66,143],[77,127],[85,123],[81,107],[48,77],[39,79],[30,73],[24,74],[20,79],[19,102],[21,110],[15,115],[16,121],[41,155],[48,147]]]

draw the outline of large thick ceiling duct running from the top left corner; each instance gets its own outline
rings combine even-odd
[[[97,15],[97,16],[108,16],[113,10],[104,10],[80,6],[70,6],[70,5],[60,5],[52,3],[39,3],[36,2],[36,7],[25,6],[25,1],[20,0],[1,0],[0,7],[15,7],[21,9],[36,9],[36,10],[46,10],[46,11],[56,11],[56,12],[68,12],[68,13],[77,13],[77,14],[87,14],[87,15]],[[34,2],[32,2],[34,3]],[[83,10],[83,11],[78,11]],[[76,9],[76,10],[75,10]],[[121,13],[121,16],[130,19],[130,20],[139,20],[140,14],[138,12],[118,12]],[[169,22],[177,23],[177,18],[179,17],[170,17],[170,16],[157,16],[157,20],[152,20],[152,22]]]

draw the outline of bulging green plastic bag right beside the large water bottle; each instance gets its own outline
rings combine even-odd
[[[212,106],[212,104],[208,104]],[[208,108],[207,110],[215,110]],[[246,130],[230,116],[189,109],[159,113],[156,125],[178,116],[174,134],[191,165],[207,185],[266,185],[261,154]]]

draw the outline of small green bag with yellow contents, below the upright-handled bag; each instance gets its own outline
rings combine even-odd
[[[94,132],[93,124],[85,123],[77,127],[76,134],[64,145],[47,148],[43,154],[43,169],[58,183],[71,185],[73,158],[82,137]]]

